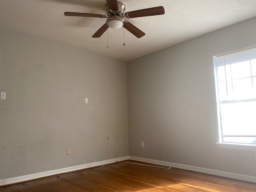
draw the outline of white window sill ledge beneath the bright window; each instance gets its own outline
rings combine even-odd
[[[216,143],[220,149],[233,149],[244,151],[256,151],[256,145],[254,144],[241,144],[241,143]]]

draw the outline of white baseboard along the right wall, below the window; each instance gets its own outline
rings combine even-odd
[[[146,158],[140,158],[140,157],[134,157],[134,156],[130,156],[130,160],[162,165],[162,166],[170,166],[170,167],[175,167],[175,168],[180,168],[180,169],[185,169],[185,170],[190,170],[195,172],[201,172],[201,173],[206,173],[206,174],[211,174],[216,176],[223,176],[227,178],[256,183],[256,177],[254,176],[248,176],[248,175],[242,175],[242,174],[236,174],[236,173],[230,173],[230,172],[224,172],[224,171],[218,171],[218,170],[212,170],[207,168],[201,168],[201,167],[195,167],[195,166],[183,165],[183,164],[171,163],[171,162],[165,162],[165,161],[158,161],[158,160],[152,160],[152,159],[146,159]]]

